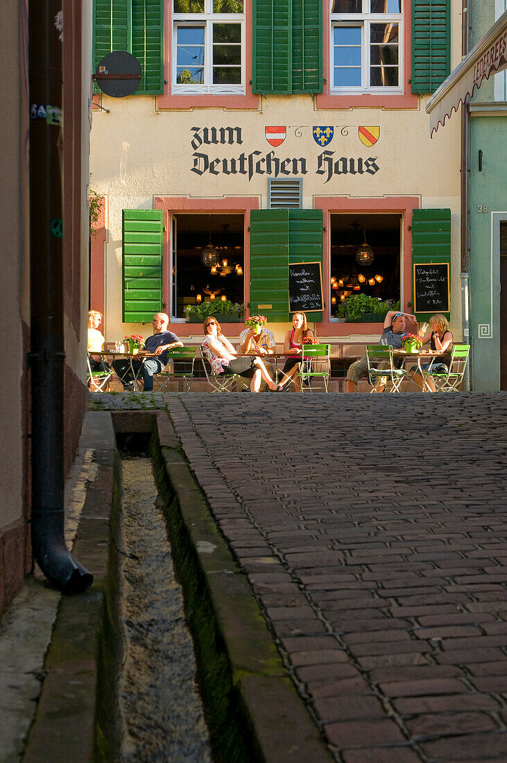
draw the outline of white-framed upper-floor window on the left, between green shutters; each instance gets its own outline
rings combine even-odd
[[[172,2],[172,92],[245,92],[243,0]]]

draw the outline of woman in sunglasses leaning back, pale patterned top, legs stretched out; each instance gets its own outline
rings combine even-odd
[[[262,359],[258,356],[252,355],[248,358],[238,358],[236,349],[233,345],[223,336],[220,324],[216,318],[209,316],[204,320],[204,340],[202,346],[204,347],[207,355],[207,359],[210,361],[211,370],[213,374],[237,374],[238,376],[245,376],[249,378],[250,390],[252,392],[258,392],[261,388],[261,381],[265,381],[268,388],[272,391],[278,390],[277,385],[274,384],[268,369]]]

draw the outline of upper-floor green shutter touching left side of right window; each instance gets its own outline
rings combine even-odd
[[[322,92],[322,0],[292,0],[292,92]]]

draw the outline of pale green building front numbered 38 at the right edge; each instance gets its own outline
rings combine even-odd
[[[474,2],[470,47],[507,11]],[[470,344],[474,390],[507,389],[507,79],[489,77],[470,101]],[[447,127],[447,125],[446,125]],[[444,131],[444,130],[442,130]]]

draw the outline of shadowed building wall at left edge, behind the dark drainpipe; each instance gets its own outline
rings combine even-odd
[[[84,4],[86,8],[86,4]],[[70,468],[86,406],[88,302],[88,155],[91,110],[91,10],[63,3],[65,84],[63,140],[65,204],[65,459]],[[2,3],[2,506],[0,506],[0,611],[20,590],[31,568],[30,548],[30,201],[27,2]],[[58,22],[59,23],[59,22]],[[41,221],[41,225],[43,222]],[[50,392],[48,392],[50,394]]]

